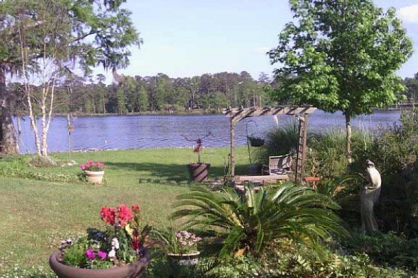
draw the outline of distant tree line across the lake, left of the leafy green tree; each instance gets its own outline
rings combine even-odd
[[[255,80],[248,72],[203,74],[186,78],[156,76],[116,76],[118,83],[105,85],[105,77],[73,77],[55,89],[54,113],[118,114],[180,113],[202,111],[218,113],[226,106],[252,107],[272,105],[270,91],[274,82],[261,73]],[[42,86],[33,85],[40,93]],[[22,84],[9,83],[15,115],[26,115]],[[36,113],[36,111],[35,111]]]

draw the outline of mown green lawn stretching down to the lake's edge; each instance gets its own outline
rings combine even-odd
[[[203,150],[202,159],[211,163],[209,179],[222,179],[229,148]],[[47,268],[47,259],[62,239],[84,234],[87,227],[100,227],[102,206],[139,204],[144,222],[162,227],[176,196],[189,190],[186,164],[196,161],[192,149],[132,149],[123,151],[53,154],[63,160],[85,163],[88,159],[107,165],[105,182],[94,186],[77,178],[79,165],[35,168],[1,162],[5,167],[23,170],[28,177],[40,173],[66,174],[71,182],[0,177],[0,273],[19,265]],[[22,156],[29,161],[29,156]],[[22,157],[20,158],[22,160]],[[1,160],[0,160],[1,161]],[[245,173],[247,149],[237,147],[236,172]],[[23,169],[22,169],[23,168]],[[6,170],[4,170],[6,169]],[[51,177],[54,177],[53,175]]]

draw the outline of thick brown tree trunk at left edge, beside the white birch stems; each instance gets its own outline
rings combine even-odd
[[[10,113],[10,101],[6,91],[6,69],[0,65],[0,152],[1,154],[18,154],[15,127]]]

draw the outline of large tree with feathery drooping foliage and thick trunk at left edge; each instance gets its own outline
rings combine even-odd
[[[40,8],[45,7],[49,2],[51,6],[59,6],[68,19],[68,30],[60,28],[61,36],[59,40],[50,40],[53,36],[46,38],[38,37],[33,34],[38,28],[50,25],[49,19],[39,17]],[[3,107],[7,107],[8,93],[4,89],[6,82],[5,76],[8,72],[20,71],[22,67],[22,57],[26,60],[26,66],[31,70],[36,70],[39,59],[52,61],[60,58],[61,61],[71,61],[73,65],[79,67],[84,74],[90,74],[92,67],[102,65],[105,69],[116,69],[125,67],[129,64],[128,57],[130,51],[128,47],[141,44],[139,33],[132,25],[130,12],[121,8],[125,0],[4,0],[0,2],[0,34],[2,38],[8,37],[8,44],[1,42],[0,54],[0,98]],[[14,35],[17,28],[25,30],[24,47],[22,47],[22,37]],[[54,31],[55,32],[55,31]],[[30,40],[26,40],[30,38]],[[65,40],[63,39],[65,38]],[[43,40],[43,41],[42,41]],[[45,42],[59,42],[61,49],[59,56],[53,56],[52,52],[42,49]],[[3,45],[4,44],[4,45]],[[23,55],[22,49],[26,51]],[[29,68],[29,67],[27,67]],[[66,68],[69,70],[69,67]],[[34,71],[35,72],[35,71]],[[58,79],[59,76],[56,76]],[[3,110],[5,110],[3,113]],[[2,109],[1,126],[4,126],[8,119],[8,109]],[[10,112],[9,112],[10,114]],[[5,115],[5,117],[3,117]],[[11,119],[8,120],[11,122]],[[13,136],[11,129],[1,129],[0,136],[2,146],[13,145],[15,142],[9,140]],[[2,150],[13,149],[4,147]]]

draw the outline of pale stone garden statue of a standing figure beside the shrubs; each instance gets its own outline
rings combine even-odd
[[[360,192],[360,199],[362,200],[361,214],[362,214],[362,232],[371,232],[378,229],[378,223],[373,213],[373,206],[380,196],[380,186],[382,179],[379,171],[376,169],[373,162],[367,160],[366,179],[369,183],[362,188]]]

